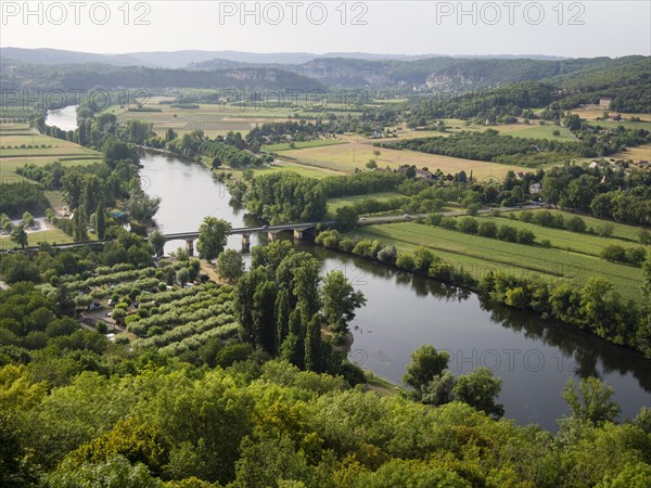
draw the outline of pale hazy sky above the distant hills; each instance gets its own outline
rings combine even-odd
[[[648,0],[0,3],[2,47],[98,53],[651,54]],[[26,17],[25,3],[35,12]],[[468,12],[460,18],[459,5]],[[244,9],[253,13],[242,18]]]

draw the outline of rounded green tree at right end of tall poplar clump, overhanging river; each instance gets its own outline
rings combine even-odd
[[[321,292],[328,325],[334,333],[345,334],[355,319],[355,310],[366,304],[363,294],[353,288],[342,271],[330,271]]]

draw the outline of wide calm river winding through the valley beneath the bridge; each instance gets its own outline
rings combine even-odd
[[[165,232],[199,229],[205,216],[240,227],[247,220],[230,205],[228,189],[200,164],[148,154],[141,159],[144,190],[163,198],[156,215]],[[252,245],[265,236],[252,236]],[[183,243],[169,243],[167,252]],[[229,246],[241,248],[241,237]],[[621,419],[651,404],[651,361],[575,328],[533,313],[485,303],[474,293],[413,277],[362,258],[298,243],[319,257],[324,270],[341,269],[367,305],[352,323],[350,360],[399,384],[411,352],[431,344],[450,354],[455,374],[481,365],[503,380],[499,402],[521,424],[557,429],[569,414],[560,394],[567,378],[597,375],[615,389]]]

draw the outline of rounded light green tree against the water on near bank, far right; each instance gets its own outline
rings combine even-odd
[[[574,381],[567,380],[561,397],[570,406],[574,418],[598,425],[613,422],[620,414],[620,406],[612,399],[614,394],[612,386],[589,376],[578,382],[578,391]]]

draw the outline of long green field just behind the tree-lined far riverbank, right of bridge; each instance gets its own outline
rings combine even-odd
[[[350,235],[395,244],[401,252],[426,246],[448,262],[463,266],[475,279],[497,269],[518,277],[563,280],[577,285],[585,284],[591,277],[603,277],[625,298],[643,300],[640,268],[608,262],[595,256],[509,243],[413,222],[369,226]]]

